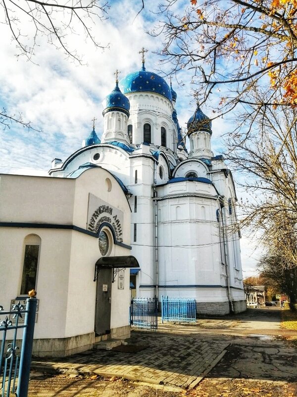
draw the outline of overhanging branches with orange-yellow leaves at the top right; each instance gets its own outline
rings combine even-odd
[[[297,0],[189,0],[179,15],[174,2],[162,9],[161,54],[173,70],[193,71],[200,101],[220,96],[216,115],[238,104],[254,112],[297,104]],[[263,95],[256,101],[259,86]]]

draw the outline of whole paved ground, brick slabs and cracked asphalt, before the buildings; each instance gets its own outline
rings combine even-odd
[[[297,350],[276,340],[278,335],[283,335],[279,310],[251,309],[239,316],[199,319],[195,325],[160,324],[156,333],[132,331],[127,352],[93,349],[56,360],[36,359],[32,367],[182,388],[195,387],[209,373],[295,382]]]

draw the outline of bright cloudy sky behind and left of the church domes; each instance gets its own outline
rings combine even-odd
[[[90,25],[100,44],[107,46],[104,50],[96,49],[76,25],[66,40],[70,49],[82,55],[82,64],[67,58],[44,36],[38,37],[38,46],[31,61],[17,56],[18,49],[11,40],[7,24],[0,23],[0,106],[12,116],[21,114],[24,121],[30,121],[32,127],[38,130],[28,130],[15,123],[4,130],[0,128],[0,173],[48,175],[54,157],[64,161],[81,147],[82,141],[92,131],[94,117],[100,137],[102,101],[114,88],[113,73],[118,69],[121,79],[140,69],[139,51],[142,47],[148,50],[147,70],[163,76],[168,74],[168,66],[162,65],[156,54],[162,49],[162,37],[147,33],[162,18],[157,13],[158,2],[146,1],[145,9],[138,14],[142,7],[141,0],[110,1],[107,18]],[[189,3],[188,0],[177,1],[174,11],[183,12]],[[27,18],[19,17],[21,25],[18,28],[21,28],[25,42],[30,44],[34,27]],[[166,77],[166,80],[169,83],[169,78]],[[180,81],[183,85],[178,84]],[[191,72],[184,69],[177,78],[173,76],[172,85],[178,95],[176,108],[179,123],[185,129],[196,109],[191,92]],[[207,115],[207,106],[202,111]],[[232,125],[226,118],[214,120],[211,141],[215,155],[223,153],[220,136],[231,129]],[[238,192],[238,197],[240,195],[241,192]],[[254,245],[253,239],[243,236],[244,277],[256,273],[254,266],[259,254],[254,251]]]

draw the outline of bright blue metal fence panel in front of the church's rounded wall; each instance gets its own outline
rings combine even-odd
[[[162,324],[196,323],[196,300],[187,298],[168,298],[162,296]]]

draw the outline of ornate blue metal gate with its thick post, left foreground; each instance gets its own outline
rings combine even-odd
[[[17,397],[28,395],[36,305],[37,299],[30,298],[26,301],[26,307],[18,302],[10,311],[5,312],[0,306],[0,332],[2,332],[0,394],[2,397],[9,397],[11,393],[16,394]],[[24,330],[23,339],[17,341],[17,331],[20,329]],[[20,352],[17,343],[22,345]]]

